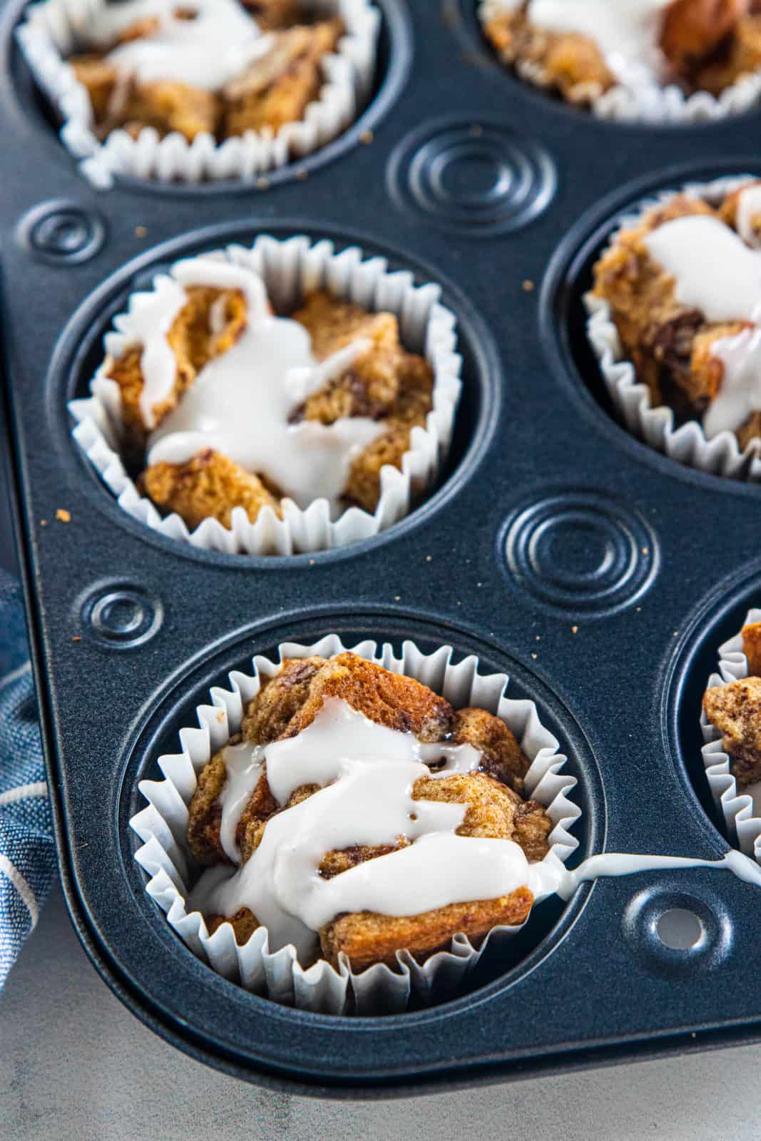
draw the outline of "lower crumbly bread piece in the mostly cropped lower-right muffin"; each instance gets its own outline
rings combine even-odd
[[[761,678],[706,689],[705,715],[720,730],[740,788],[761,779]]]

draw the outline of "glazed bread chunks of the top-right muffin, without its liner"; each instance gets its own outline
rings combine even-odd
[[[480,17],[505,65],[580,106],[622,88],[719,98],[761,67],[758,0],[485,0]]]

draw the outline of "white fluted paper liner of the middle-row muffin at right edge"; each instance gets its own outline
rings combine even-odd
[[[666,191],[646,199],[635,213],[621,219],[608,244],[614,245],[618,234],[637,226],[653,207],[663,205],[678,194],[689,194],[717,205],[727,194],[756,180],[750,175],[743,175],[718,178],[711,183],[688,183],[680,191]],[[608,302],[586,293],[584,305],[589,314],[586,335],[599,362],[608,395],[629,431],[657,452],[688,468],[698,468],[731,479],[761,479],[761,440],[753,439],[747,447],[740,450],[737,437],[731,431],[722,431],[707,439],[697,420],[688,420],[675,428],[672,408],[663,404],[653,405],[647,385],[638,381],[633,363],[624,358]]]

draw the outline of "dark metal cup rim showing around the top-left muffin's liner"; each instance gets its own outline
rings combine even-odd
[[[11,65],[9,90],[11,97],[18,102],[21,113],[31,116],[35,127],[43,132],[56,136],[60,123],[49,100],[32,79],[21,50],[14,40],[14,27],[18,22],[24,2],[25,0],[19,0],[15,5],[15,15],[6,18],[2,24],[7,41],[3,43],[5,54],[6,57],[10,58]],[[402,0],[373,0],[373,3],[380,9],[382,17],[373,88],[365,107],[355,122],[331,143],[327,143],[302,159],[294,159],[284,167],[267,171],[266,176],[258,181],[234,179],[202,184],[172,183],[171,185],[164,185],[157,180],[116,176],[116,184],[132,192],[169,194],[171,197],[197,194],[251,195],[252,193],[262,193],[284,183],[302,179],[313,171],[343,156],[353,147],[362,145],[367,137],[367,132],[372,132],[378,127],[398,99],[406,83],[413,57],[412,26],[406,5]],[[62,161],[72,165],[73,159],[63,143],[59,145],[58,151]]]

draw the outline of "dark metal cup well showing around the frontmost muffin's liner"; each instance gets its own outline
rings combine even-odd
[[[309,618],[294,615],[285,617],[276,626],[253,628],[237,633],[235,639],[228,641],[221,649],[203,655],[195,669],[189,670],[181,680],[177,680],[176,673],[171,688],[167,687],[159,693],[153,710],[148,712],[136,739],[130,742],[122,759],[123,779],[118,804],[119,856],[122,863],[120,877],[121,873],[124,873],[126,890],[130,893],[132,905],[137,904],[147,920],[147,926],[152,929],[149,937],[152,949],[148,950],[146,946],[144,950],[153,961],[163,945],[162,954],[169,955],[165,971],[175,978],[175,982],[171,984],[173,993],[179,993],[177,972],[194,980],[193,986],[199,988],[197,1001],[201,1005],[197,1008],[197,1014],[195,1003],[188,1005],[188,1010],[193,1010],[194,1017],[202,1020],[200,1025],[204,1026],[204,1033],[208,1034],[213,1035],[218,1027],[226,1025],[237,1027],[234,1033],[244,1035],[243,1019],[249,1004],[254,1003],[260,1011],[262,1002],[267,1008],[275,1004],[226,984],[196,961],[181,940],[173,934],[163,914],[145,893],[144,873],[133,860],[133,852],[139,847],[139,841],[128,825],[129,818],[145,803],[138,794],[137,785],[143,778],[160,776],[157,756],[177,751],[179,729],[193,723],[194,709],[208,701],[212,685],[228,686],[227,679],[232,670],[241,669],[250,672],[253,654],[261,653],[268,657],[276,657],[275,649],[283,640],[309,644],[329,632],[338,633],[346,646],[371,638],[379,644],[391,642],[397,652],[405,638],[412,639],[424,653],[431,653],[442,645],[451,645],[454,647],[453,661],[475,654],[479,659],[479,672],[509,673],[508,695],[513,698],[529,697],[536,702],[543,725],[558,738],[561,751],[568,756],[568,771],[578,779],[578,785],[570,795],[582,809],[582,816],[573,830],[580,841],[580,848],[572,856],[569,864],[574,865],[577,860],[600,851],[604,845],[605,792],[597,759],[570,711],[520,661],[480,641],[469,631],[452,628],[448,623],[445,625],[443,620],[399,612],[357,610],[337,614],[325,610]],[[430,1021],[436,1019],[437,1010],[450,1009],[453,1003],[461,1000],[467,1001],[467,996],[475,990],[484,996],[503,990],[552,953],[581,914],[589,890],[590,885],[584,885],[568,904],[564,904],[557,897],[543,903],[532,915],[526,928],[507,946],[507,952],[504,946],[499,953],[486,952],[472,978],[439,1008],[423,1008],[399,1015],[383,1015],[378,1020],[379,1025],[388,1025],[389,1020],[400,1023],[416,1018]],[[236,1010],[238,1014],[233,1017]],[[282,1018],[283,1008],[277,1008],[277,1011],[276,1017]],[[289,1010],[288,1017],[297,1020],[315,1018],[314,1014],[296,1010]],[[348,1021],[342,1018],[337,1019],[334,1015],[318,1015],[318,1018],[324,1023],[335,1025],[338,1021],[343,1027],[356,1027],[358,1023],[367,1026],[369,1022],[366,1018]]]

